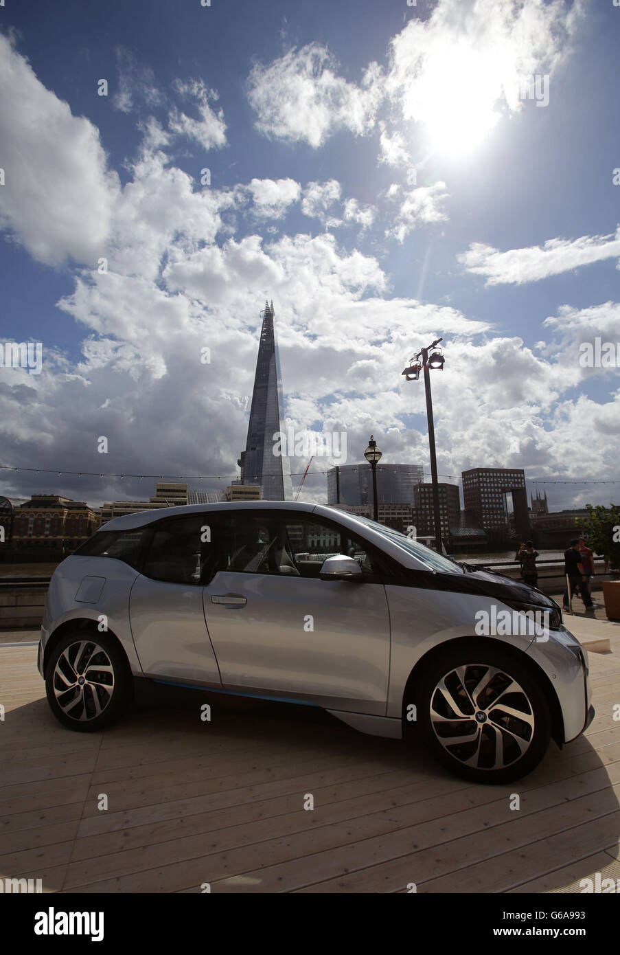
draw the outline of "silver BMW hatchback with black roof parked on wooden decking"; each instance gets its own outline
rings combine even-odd
[[[478,782],[525,775],[594,715],[587,655],[541,591],[288,501],[106,523],[52,576],[38,668],[72,730],[103,728],[152,680],[411,733]]]

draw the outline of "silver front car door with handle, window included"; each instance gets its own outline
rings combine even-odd
[[[219,541],[203,599],[223,686],[384,714],[390,630],[376,555],[336,522],[283,509],[234,512]],[[342,550],[363,583],[320,580]]]

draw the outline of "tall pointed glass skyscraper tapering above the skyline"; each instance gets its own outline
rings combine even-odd
[[[263,500],[291,500],[291,467],[288,456],[274,454],[280,441],[274,437],[286,434],[281,415],[284,413],[282,378],[279,371],[278,338],[274,326],[274,303],[265,302],[258,343],[257,373],[254,379],[252,408],[245,451],[238,465],[241,484],[259,484]],[[284,442],[281,442],[284,445]],[[281,447],[282,452],[286,447]]]

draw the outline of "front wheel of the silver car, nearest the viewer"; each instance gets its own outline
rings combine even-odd
[[[412,689],[425,746],[456,775],[511,782],[547,753],[546,694],[530,669],[502,647],[451,647],[429,662]]]

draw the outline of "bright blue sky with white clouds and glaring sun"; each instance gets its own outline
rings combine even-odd
[[[0,495],[223,490],[268,299],[286,427],[346,435],[301,500],[371,433],[429,474],[443,338],[440,480],[617,502],[617,3],[6,0]]]

